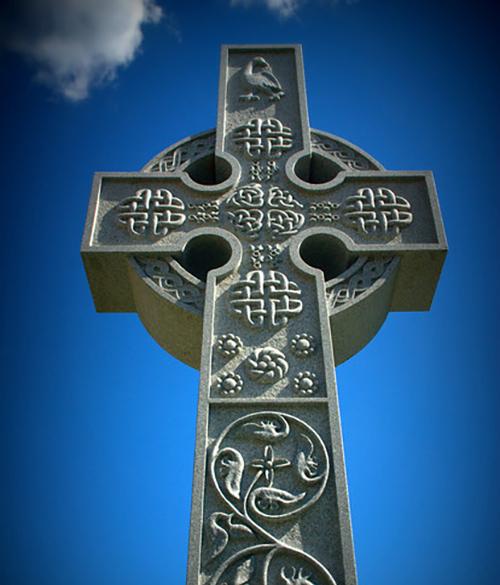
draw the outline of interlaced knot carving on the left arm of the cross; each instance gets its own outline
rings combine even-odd
[[[134,236],[166,236],[186,221],[184,203],[168,189],[138,189],[118,208],[118,221]]]

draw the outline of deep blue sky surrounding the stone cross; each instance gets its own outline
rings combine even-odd
[[[299,42],[311,125],[388,169],[433,170],[450,245],[432,310],[390,315],[338,370],[360,585],[499,583],[489,3],[14,4],[0,13],[0,581],[184,582],[198,373],[135,315],[95,313],[79,258],[92,173],[213,127],[222,43]]]

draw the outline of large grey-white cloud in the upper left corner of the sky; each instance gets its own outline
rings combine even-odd
[[[18,0],[4,12],[2,44],[72,101],[112,80],[136,55],[142,26],[164,16],[156,0]]]

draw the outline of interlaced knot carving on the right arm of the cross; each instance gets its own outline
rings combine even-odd
[[[413,221],[411,205],[387,187],[363,187],[346,198],[342,221],[363,234],[399,234]]]

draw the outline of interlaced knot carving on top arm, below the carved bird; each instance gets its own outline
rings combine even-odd
[[[234,132],[234,143],[248,158],[279,158],[292,148],[292,130],[277,118],[252,118]]]

